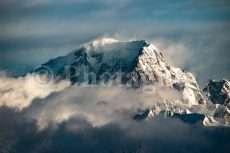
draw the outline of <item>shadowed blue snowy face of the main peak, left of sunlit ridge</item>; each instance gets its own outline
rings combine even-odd
[[[43,65],[51,68],[56,78],[70,79],[73,84],[97,84],[115,79],[127,83],[133,81],[138,55],[145,45],[145,41],[94,41]],[[139,80],[137,73],[136,79]]]

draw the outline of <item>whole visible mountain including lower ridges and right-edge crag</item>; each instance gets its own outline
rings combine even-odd
[[[226,103],[226,100],[219,101],[223,99],[223,92],[219,92],[219,88],[222,89],[225,85],[210,81],[205,88],[208,92],[206,95],[209,96],[205,99],[192,73],[169,65],[162,53],[153,44],[144,40],[124,42],[108,38],[98,39],[66,56],[51,59],[41,67],[49,69],[57,81],[69,79],[72,84],[119,84],[133,88],[160,85],[181,94],[176,101],[163,99],[165,106],[155,103],[152,108],[138,113],[134,117],[137,120],[170,112],[170,116],[186,118],[190,123],[197,120],[203,121],[204,125],[228,124],[225,119],[223,121],[223,117],[229,114],[228,108],[223,106],[220,109],[216,105]],[[226,94],[229,95],[229,91]],[[215,101],[209,103],[208,98]],[[221,120],[216,120],[215,117]]]

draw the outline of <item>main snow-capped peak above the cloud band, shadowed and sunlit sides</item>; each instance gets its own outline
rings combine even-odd
[[[144,40],[95,40],[42,66],[51,69],[56,79],[67,78],[73,84],[112,81],[140,87],[157,83],[184,92],[191,105],[204,103],[192,73],[170,66],[162,53]]]

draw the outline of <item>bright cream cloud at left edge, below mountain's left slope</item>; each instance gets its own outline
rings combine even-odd
[[[55,84],[52,80],[47,79],[43,80],[45,82],[39,82],[37,77],[28,74],[25,77],[9,78],[1,73],[0,107],[7,106],[21,110],[28,107],[35,98],[45,98],[50,93],[69,86],[67,81]]]

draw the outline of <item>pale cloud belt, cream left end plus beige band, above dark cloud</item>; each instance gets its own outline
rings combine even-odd
[[[152,108],[163,99],[176,101],[182,93],[160,85],[133,89],[126,86],[75,85],[68,81],[52,80],[38,82],[36,75],[25,77],[0,77],[0,106],[21,111],[28,120],[36,121],[38,130],[49,126],[56,128],[60,123],[80,116],[93,127],[113,122],[128,122],[138,110]],[[40,76],[40,79],[42,76]],[[181,107],[188,107],[179,103]],[[162,107],[166,107],[166,104]]]

